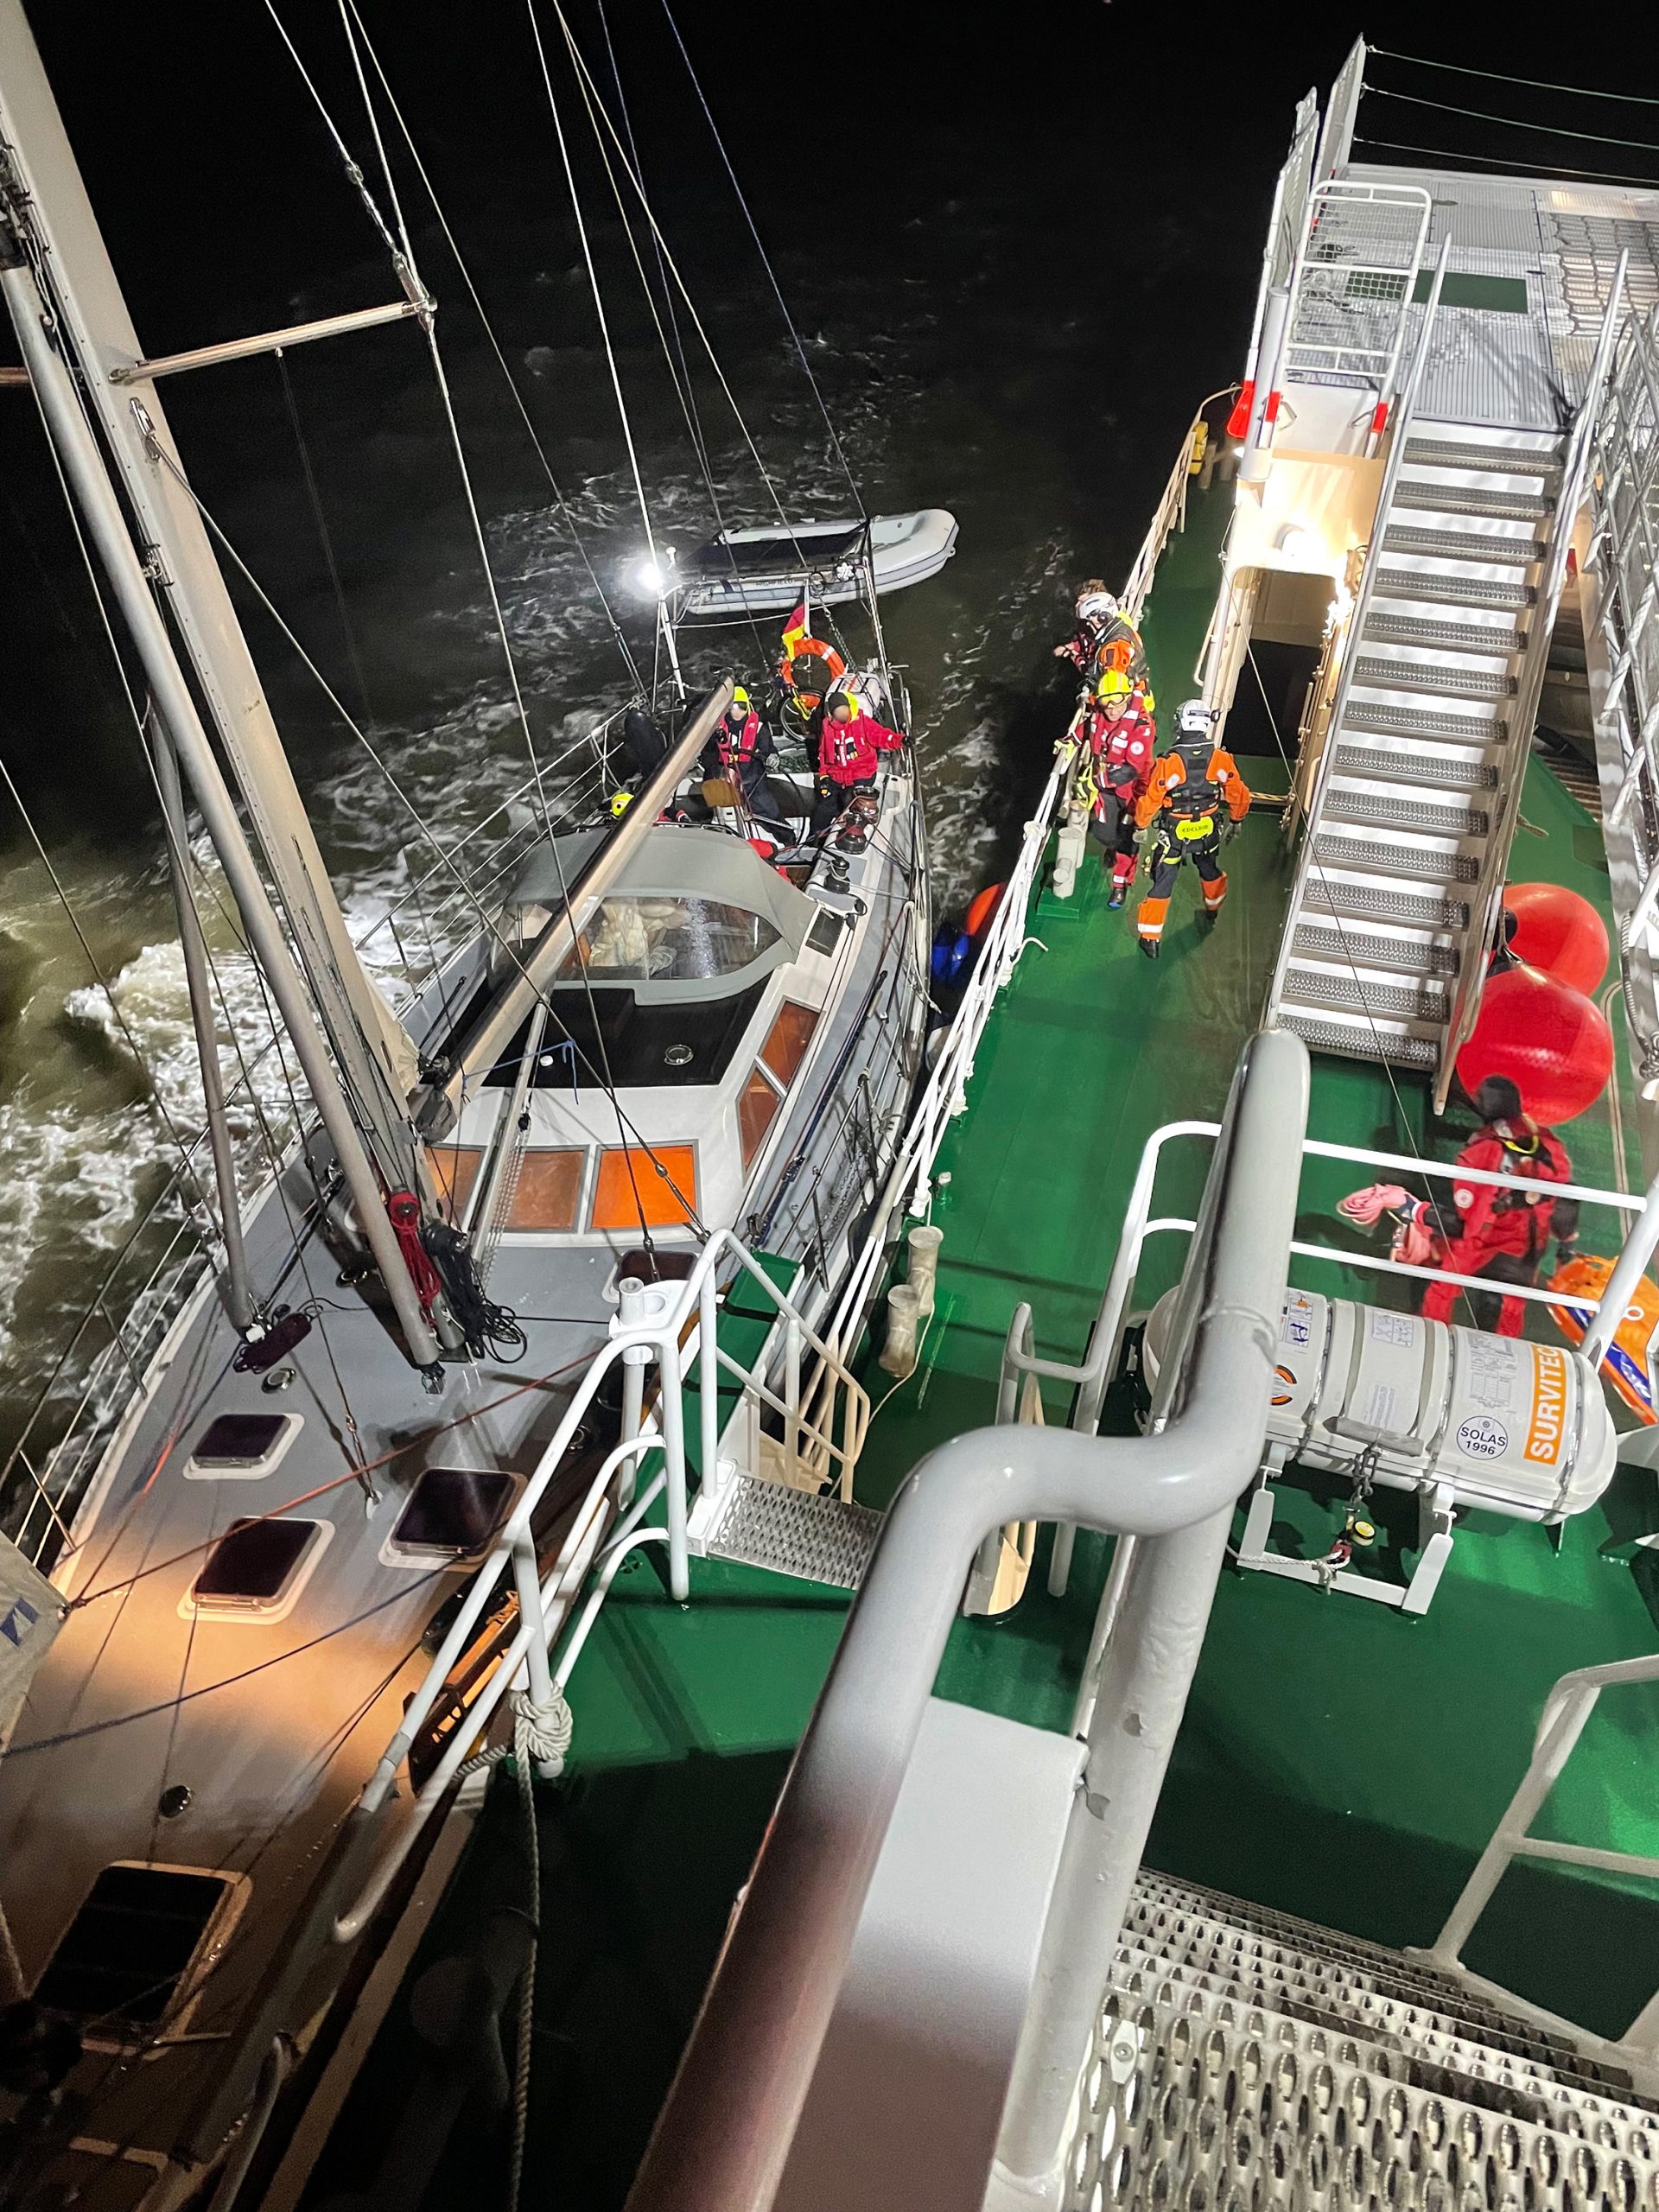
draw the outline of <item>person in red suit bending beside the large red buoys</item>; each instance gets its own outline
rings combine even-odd
[[[1489,1075],[1475,1088],[1480,1128],[1458,1152],[1458,1168],[1484,1168],[1489,1175],[1526,1177],[1533,1183],[1571,1183],[1573,1161],[1551,1128],[1540,1128],[1522,1108],[1522,1095],[1506,1075]],[[1436,1239],[1433,1265],[1447,1274],[1480,1274],[1493,1283],[1537,1283],[1544,1250],[1555,1237],[1557,1263],[1566,1265],[1579,1234],[1579,1201],[1553,1199],[1546,1190],[1504,1190],[1502,1183],[1453,1181],[1451,1199],[1413,1199],[1400,1183],[1371,1183],[1336,1208],[1349,1221],[1367,1228],[1383,1212],[1396,1214],[1407,1228],[1429,1230]],[[1451,1321],[1458,1298],[1455,1283],[1429,1283],[1422,1292],[1427,1321]],[[1478,1329],[1493,1325],[1498,1336],[1520,1336],[1526,1323],[1526,1301],[1502,1294],[1469,1292],[1469,1312]]]

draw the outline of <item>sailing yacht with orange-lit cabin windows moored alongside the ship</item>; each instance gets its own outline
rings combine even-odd
[[[768,1491],[799,1495],[843,1548],[874,1524],[849,1502],[867,1396],[843,1356],[929,1015],[914,752],[887,754],[814,838],[812,699],[785,686],[796,714],[763,823],[714,757],[730,677],[635,699],[582,776],[533,759],[489,836],[434,841],[431,896],[462,922],[394,1011],[345,927],[157,389],[374,323],[431,336],[411,259],[394,268],[392,307],[148,358],[24,13],[0,4],[0,290],[148,688],[208,1121],[161,1203],[179,1225],[161,1270],[102,1356],[69,1369],[69,1398],[49,1378],[7,1478],[13,2203],[234,2199],[272,2112],[303,2108],[376,1960],[429,1909],[422,1867],[462,1763],[500,1756],[493,1717],[557,1770],[551,1617],[619,1522],[664,1500],[679,1601],[690,1544],[752,1548]],[[863,606],[869,648],[847,666],[807,637],[814,681],[825,706],[847,692],[909,726],[872,529],[852,538],[838,599]],[[796,557],[772,562],[796,635],[810,613],[841,637]],[[677,679],[666,597],[657,615]],[[188,805],[303,1079],[303,1128],[252,1194]],[[876,1243],[889,1225],[891,1206]],[[748,1356],[723,1345],[719,1367],[732,1329]],[[703,1385],[690,1440],[684,1345]],[[721,1458],[732,1425],[741,1471]],[[688,1526],[699,1467],[703,1522],[723,1482],[723,1535]]]

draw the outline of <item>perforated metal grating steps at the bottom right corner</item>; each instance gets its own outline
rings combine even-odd
[[[1398,1951],[1141,1871],[1062,2203],[1632,2212],[1655,2088]]]

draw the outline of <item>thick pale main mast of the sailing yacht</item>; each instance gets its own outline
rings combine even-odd
[[[230,761],[323,1029],[389,1188],[418,1181],[416,1053],[345,929],[259,675],[22,13],[0,0],[0,159],[64,361],[137,518],[148,568]]]

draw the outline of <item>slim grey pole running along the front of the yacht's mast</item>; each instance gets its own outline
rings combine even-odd
[[[2,246],[4,241],[0,239],[0,248]],[[195,699],[190,697],[190,686],[184,681],[184,672],[173,653],[173,639],[168,637],[161,613],[150,597],[148,580],[139,566],[139,557],[126,529],[126,518],[104,471],[102,453],[97,451],[93,434],[86,427],[86,418],[80,411],[69,369],[46,336],[46,303],[40,296],[33,270],[29,270],[22,261],[13,261],[9,268],[0,265],[0,292],[4,292],[7,307],[11,310],[18,345],[22,347],[22,358],[29,367],[29,378],[35,387],[35,396],[40,398],[40,409],[46,416],[46,427],[53,445],[58,447],[64,473],[75,487],[75,500],[82,518],[93,544],[97,546],[111,588],[119,599],[133,641],[137,644],[157,710],[184,759],[190,787],[197,805],[201,807],[201,818],[208,825],[208,836],[212,838],[219,865],[226,872],[226,883],[230,885],[230,894],[241,911],[248,942],[265,973],[272,998],[276,1000],[276,1011],[283,1018],[283,1026],[294,1042],[294,1053],[305,1075],[305,1088],[312,1093],[316,1113],[327,1130],[330,1144],[334,1146],[334,1157],[338,1159],[345,1186],[352,1192],[352,1206],[356,1208],[363,1234],[374,1252],[374,1265],[380,1270],[380,1281],[387,1287],[405,1343],[409,1345],[409,1358],[416,1367],[431,1367],[438,1358],[438,1343],[427,1327],[425,1314],[420,1312],[420,1298],[416,1296],[409,1267],[398,1250],[392,1221],[387,1219],[380,1181],[374,1172],[369,1155],[363,1148],[358,1126],[352,1119],[345,1097],[341,1095],[334,1068],[330,1066],[327,1046],[323,1044],[316,1020],[312,1018],[312,1006],[292,964],[281,922],[276,920],[270,898],[265,896],[265,885],[259,880],[254,858],[248,852],[241,823],[237,821],[237,810],[230,803],[230,792],[226,790],[219,763],[212,757],[208,732],[201,728],[201,717],[197,714]]]

